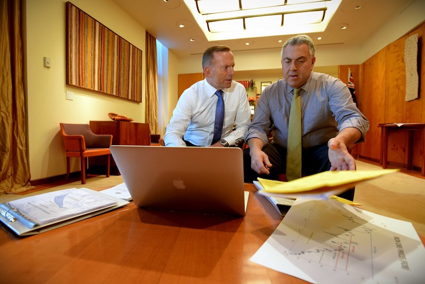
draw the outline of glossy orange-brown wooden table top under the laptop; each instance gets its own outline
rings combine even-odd
[[[252,184],[245,188],[243,218],[131,202],[30,237],[1,225],[0,283],[306,283],[249,261],[282,217]]]

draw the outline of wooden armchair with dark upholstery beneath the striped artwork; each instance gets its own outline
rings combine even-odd
[[[86,158],[107,155],[106,177],[110,172],[110,150],[112,135],[92,132],[89,124],[59,123],[67,152],[67,180],[70,177],[70,158],[80,158],[81,184],[86,183]]]

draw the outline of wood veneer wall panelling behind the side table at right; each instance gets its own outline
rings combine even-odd
[[[406,73],[404,62],[405,40],[418,34],[418,73],[419,98],[405,101]],[[356,146],[356,154],[371,161],[378,162],[381,154],[381,128],[379,123],[421,122],[425,123],[425,24],[406,36],[394,41],[363,62],[361,65],[344,65],[339,67],[339,78],[348,82],[348,68],[351,68],[358,107],[370,122],[366,141]],[[358,83],[356,82],[358,81]],[[404,153],[407,146],[403,132],[389,137],[388,161],[396,165],[407,164]],[[423,166],[421,157],[421,134],[414,134],[413,165]]]

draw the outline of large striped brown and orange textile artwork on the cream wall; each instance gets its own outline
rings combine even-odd
[[[67,2],[67,84],[142,102],[142,50]]]

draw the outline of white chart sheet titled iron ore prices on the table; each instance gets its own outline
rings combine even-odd
[[[409,222],[298,198],[251,261],[318,284],[422,284],[425,248]]]

